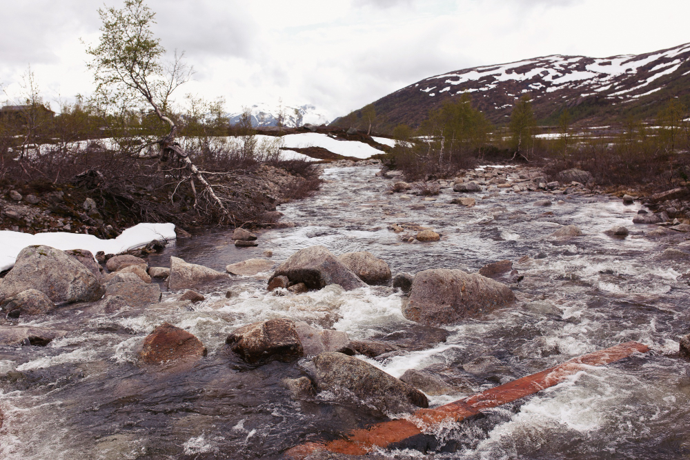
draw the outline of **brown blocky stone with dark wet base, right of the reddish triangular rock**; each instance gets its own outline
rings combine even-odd
[[[250,364],[288,363],[304,356],[295,323],[290,319],[269,319],[242,326],[228,335],[225,342]]]

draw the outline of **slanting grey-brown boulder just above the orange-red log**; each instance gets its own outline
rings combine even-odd
[[[424,393],[369,363],[338,352],[313,358],[313,379],[317,390],[330,391],[341,398],[352,394],[384,414],[413,412],[428,407]]]

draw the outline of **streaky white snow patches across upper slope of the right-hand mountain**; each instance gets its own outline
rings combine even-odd
[[[530,92],[532,97],[538,98],[546,93],[578,88],[582,88],[580,97],[601,93],[609,99],[635,98],[658,90],[647,86],[664,75],[676,72],[689,56],[684,54],[681,59],[675,58],[688,51],[690,43],[649,54],[608,58],[556,54],[437,75],[403,89],[418,88],[428,97],[435,97],[443,92],[486,92],[513,81],[529,82],[522,91],[509,94],[515,99],[520,97],[520,93]],[[649,89],[651,91],[645,92]]]

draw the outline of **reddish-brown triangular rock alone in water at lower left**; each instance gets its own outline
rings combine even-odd
[[[206,356],[206,347],[184,329],[163,323],[153,330],[141,350],[141,360],[149,364],[199,359]]]

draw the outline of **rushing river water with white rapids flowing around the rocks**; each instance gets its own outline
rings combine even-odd
[[[447,328],[444,343],[366,361],[396,377],[408,368],[426,368],[481,391],[623,341],[640,341],[652,351],[579,372],[531,398],[446,427],[438,434],[457,441],[457,450],[433,458],[690,455],[689,366],[678,357],[678,339],[690,332],[689,288],[682,277],[688,266],[687,260],[662,256],[669,246],[684,247],[683,234],[644,236],[655,227],[633,226],[639,206],[603,195],[560,197],[564,203],[549,208],[532,206],[544,198],[541,192],[487,199],[472,194],[474,208],[449,204],[449,189],[436,201],[402,201],[399,194],[385,194],[391,181],[374,177],[375,170],[326,169],[319,194],[279,208],[297,226],[263,232],[258,248],[237,249],[228,233],[209,231],[150,257],[150,265],[165,266],[177,255],[223,270],[228,263],[262,257],[266,249],[278,262],[317,244],[335,254],[368,250],[393,273],[475,271],[511,259],[524,275],[513,286],[515,306]],[[401,234],[388,230],[394,223],[434,228],[442,241],[404,243]],[[571,223],[584,236],[549,238]],[[631,235],[605,235],[615,224],[630,228]],[[293,399],[281,381],[303,375],[299,363],[244,366],[224,341],[237,326],[288,317],[346,331],[352,339],[402,337],[399,343],[409,345],[410,337],[424,331],[402,317],[401,293],[385,286],[351,292],[331,286],[275,296],[266,292],[267,277],[207,288],[206,301],[193,311],[166,306],[178,294],[166,292],[157,308],[91,314],[77,306],[31,321],[72,332],[46,347],[0,347],[0,458],[270,459],[298,443],[333,439],[380,421],[328,394]],[[226,298],[228,288],[233,297]],[[162,321],[199,337],[208,357],[170,370],[139,365],[141,341]],[[493,368],[475,374],[463,369],[480,357],[493,357]],[[411,450],[380,453],[424,457]]]

